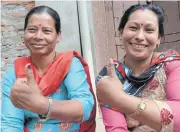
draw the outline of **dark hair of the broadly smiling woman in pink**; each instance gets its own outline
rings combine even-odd
[[[121,21],[120,21],[120,25],[119,25],[119,28],[118,30],[121,31],[124,29],[128,19],[129,19],[129,16],[137,11],[137,10],[140,10],[140,9],[148,9],[148,10],[151,10],[153,11],[156,15],[157,15],[157,18],[158,18],[158,25],[159,25],[159,35],[162,37],[164,36],[164,11],[163,9],[158,6],[158,5],[155,5],[155,4],[146,4],[146,5],[142,5],[142,4],[137,4],[137,5],[133,5],[131,6],[130,8],[128,8],[124,15],[122,16],[121,18]]]

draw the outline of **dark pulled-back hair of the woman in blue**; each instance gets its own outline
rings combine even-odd
[[[25,24],[24,24],[24,30],[27,27],[28,24],[28,20],[31,17],[31,15],[33,14],[42,14],[42,13],[47,13],[48,15],[50,15],[53,19],[54,19],[54,23],[55,23],[55,29],[56,32],[59,33],[61,32],[61,21],[60,21],[60,17],[59,14],[52,8],[48,7],[48,6],[37,6],[35,8],[32,8],[29,13],[26,15],[25,18]]]

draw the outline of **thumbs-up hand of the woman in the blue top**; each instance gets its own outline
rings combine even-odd
[[[42,95],[42,92],[34,79],[30,64],[25,66],[25,72],[26,78],[17,78],[12,87],[10,94],[11,101],[17,108],[44,114],[44,111],[48,108],[48,99]],[[41,107],[44,107],[45,109]]]

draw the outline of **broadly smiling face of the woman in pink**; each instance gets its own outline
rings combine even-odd
[[[122,42],[126,55],[135,60],[147,59],[160,44],[156,14],[147,9],[133,12],[122,31]]]

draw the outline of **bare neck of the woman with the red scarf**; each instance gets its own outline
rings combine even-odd
[[[31,60],[34,66],[37,68],[38,73],[41,75],[44,73],[49,64],[53,62],[56,57],[56,52],[51,52],[47,55],[31,55]]]

